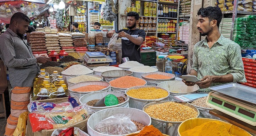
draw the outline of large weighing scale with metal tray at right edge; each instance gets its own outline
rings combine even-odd
[[[230,83],[210,87],[206,105],[256,126],[256,89]]]

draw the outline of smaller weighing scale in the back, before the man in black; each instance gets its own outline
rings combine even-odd
[[[84,60],[86,63],[108,63],[113,62],[113,60],[103,54],[102,52],[85,52]]]

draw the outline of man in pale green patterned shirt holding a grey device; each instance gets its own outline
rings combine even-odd
[[[189,75],[198,77],[199,91],[209,92],[208,87],[228,82],[246,82],[241,47],[219,32],[222,13],[217,7],[200,8],[198,11],[198,32],[206,38],[195,44],[193,65]]]

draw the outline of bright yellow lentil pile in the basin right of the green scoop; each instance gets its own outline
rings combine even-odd
[[[167,91],[157,88],[131,89],[126,94],[137,99],[160,99],[168,96]]]

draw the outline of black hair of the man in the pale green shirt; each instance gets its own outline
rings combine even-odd
[[[198,15],[201,15],[202,17],[208,17],[209,21],[217,20],[217,26],[220,26],[221,19],[222,19],[222,13],[220,8],[217,7],[207,7],[207,8],[200,8],[198,10]]]

